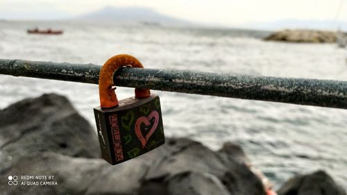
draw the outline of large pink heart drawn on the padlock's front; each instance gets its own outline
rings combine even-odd
[[[141,124],[144,123],[144,125],[150,126],[152,118],[154,118],[153,126],[152,126],[151,130],[149,130],[149,133],[147,133],[146,137],[144,137],[144,135],[142,134],[142,131],[141,131]],[[136,120],[136,123],[135,123],[135,134],[136,134],[137,138],[139,139],[139,142],[141,142],[142,148],[144,148],[144,146],[146,146],[146,144],[147,144],[147,142],[149,140],[149,137],[151,137],[151,135],[153,135],[153,133],[157,129],[158,123],[159,123],[159,114],[155,110],[153,110],[149,114],[148,117],[143,116],[143,117],[139,117]]]

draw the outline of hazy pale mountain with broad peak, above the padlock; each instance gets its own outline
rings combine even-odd
[[[144,23],[150,25],[190,25],[183,19],[162,15],[154,10],[143,7],[115,8],[105,7],[96,12],[90,12],[76,17],[80,20],[100,21],[100,22],[119,22],[119,23]]]

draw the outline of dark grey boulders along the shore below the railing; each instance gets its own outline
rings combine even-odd
[[[212,151],[190,139],[167,138],[160,148],[115,166],[100,156],[94,128],[64,96],[44,94],[0,110],[0,194],[3,195],[260,195],[266,194],[269,187],[269,182],[251,165],[242,149],[230,142],[223,144],[219,151]],[[327,173],[316,171],[291,178],[278,189],[278,194],[342,195],[346,192]]]

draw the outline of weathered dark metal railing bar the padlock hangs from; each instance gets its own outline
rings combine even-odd
[[[79,83],[98,84],[100,68],[0,59],[0,74]],[[137,68],[121,68],[113,79],[121,87],[347,109],[347,81]]]

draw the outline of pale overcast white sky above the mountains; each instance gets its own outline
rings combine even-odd
[[[0,0],[0,19],[65,19],[105,6],[146,7],[190,22],[223,26],[283,19],[347,22],[347,0]]]

